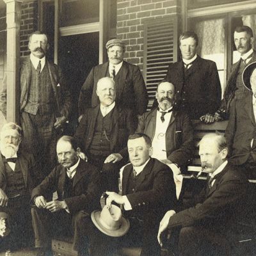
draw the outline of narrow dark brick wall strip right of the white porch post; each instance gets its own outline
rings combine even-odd
[[[20,56],[24,57],[30,54],[28,49],[28,36],[37,30],[38,23],[38,5],[36,0],[25,0],[21,5],[20,22]]]

